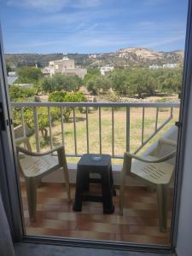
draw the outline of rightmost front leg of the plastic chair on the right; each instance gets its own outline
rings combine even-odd
[[[160,232],[166,232],[167,226],[167,202],[168,202],[168,185],[157,185],[157,199],[160,218]]]

